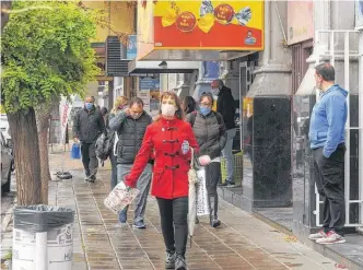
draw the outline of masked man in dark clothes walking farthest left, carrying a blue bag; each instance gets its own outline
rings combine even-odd
[[[98,168],[96,140],[104,130],[104,118],[94,106],[94,97],[87,96],[84,108],[77,113],[73,121],[73,140],[74,142],[81,142],[82,163],[86,181],[94,183],[96,180]]]

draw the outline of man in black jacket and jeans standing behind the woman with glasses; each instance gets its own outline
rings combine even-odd
[[[222,151],[226,163],[227,178],[225,179],[225,185],[233,187],[234,183],[234,159],[233,159],[233,139],[236,136],[236,125],[235,125],[235,113],[236,106],[234,104],[234,98],[231,89],[224,86],[222,80],[214,80],[211,84],[212,94],[218,96],[216,99],[216,111],[223,117],[224,125],[226,128],[226,143]]]

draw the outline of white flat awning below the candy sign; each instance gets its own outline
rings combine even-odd
[[[129,74],[192,73],[199,69],[198,61],[138,61],[129,62]]]

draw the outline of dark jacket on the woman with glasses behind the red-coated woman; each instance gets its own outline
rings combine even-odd
[[[197,114],[195,120],[192,114]],[[214,111],[207,116],[201,115],[199,111],[194,111],[187,115],[186,120],[192,126],[192,132],[198,141],[198,156],[209,155],[211,160],[221,156],[226,143],[225,126],[222,116]]]

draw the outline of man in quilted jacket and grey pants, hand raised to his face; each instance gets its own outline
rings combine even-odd
[[[137,156],[147,127],[152,122],[152,118],[143,110],[143,102],[139,97],[134,97],[129,102],[129,108],[109,116],[109,128],[118,134],[117,142],[117,183],[124,180],[132,167],[134,157]],[[150,190],[152,175],[152,165],[148,164],[141,174],[137,188],[140,193],[136,198],[136,210],[133,226],[137,228],[145,228],[143,222],[147,209],[147,200]],[[127,222],[126,208],[119,213],[120,223]]]

